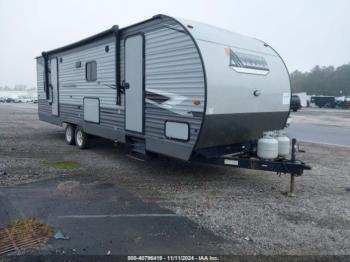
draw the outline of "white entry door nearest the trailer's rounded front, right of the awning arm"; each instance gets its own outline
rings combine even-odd
[[[125,40],[125,129],[143,132],[144,111],[144,37]]]

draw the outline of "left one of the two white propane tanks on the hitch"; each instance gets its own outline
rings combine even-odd
[[[273,132],[264,132],[258,140],[258,157],[263,159],[275,159],[278,156],[278,141]]]

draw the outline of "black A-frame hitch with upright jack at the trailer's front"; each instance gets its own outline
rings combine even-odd
[[[266,160],[252,156],[249,152],[239,152],[231,155],[224,155],[219,158],[209,158],[206,159],[205,162],[208,164],[271,171],[277,172],[278,174],[290,174],[290,187],[288,195],[293,196],[295,177],[301,176],[304,170],[311,169],[311,166],[296,159],[296,151],[297,143],[296,139],[293,138],[291,159],[277,158],[274,160]]]

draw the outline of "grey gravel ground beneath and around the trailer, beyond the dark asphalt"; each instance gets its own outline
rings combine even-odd
[[[350,254],[350,148],[301,144],[306,153],[298,158],[313,169],[296,179],[296,197],[286,197],[288,176],[165,157],[146,163],[97,138],[80,151],[36,113],[34,105],[0,104],[0,190],[54,176],[96,176],[223,236],[227,254]],[[56,161],[80,167],[46,165]]]

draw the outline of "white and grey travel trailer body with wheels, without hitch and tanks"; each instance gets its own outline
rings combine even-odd
[[[40,120],[81,148],[93,134],[191,161],[252,145],[289,115],[273,48],[165,15],[43,52],[37,76]]]

